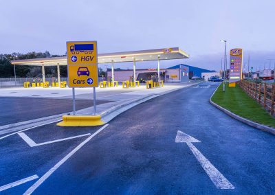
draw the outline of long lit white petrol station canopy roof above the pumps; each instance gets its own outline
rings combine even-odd
[[[140,51],[125,51],[108,54],[98,54],[98,63],[114,63],[114,62],[133,62],[150,61],[150,60],[173,60],[189,58],[186,52],[179,47],[164,49],[148,49]],[[29,66],[56,66],[67,65],[67,56],[54,58],[35,58],[26,60],[12,60],[12,65],[29,65]]]

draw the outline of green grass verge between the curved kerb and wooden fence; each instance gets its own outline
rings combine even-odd
[[[250,98],[239,85],[228,87],[226,84],[225,92],[222,89],[221,84],[212,96],[212,102],[240,117],[275,128],[275,118],[261,104]]]

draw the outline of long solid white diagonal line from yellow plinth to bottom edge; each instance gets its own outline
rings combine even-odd
[[[32,192],[34,192],[34,190],[36,190],[37,187],[39,187],[51,174],[54,173],[54,171],[56,171],[63,163],[65,163],[65,161],[67,161],[67,159],[69,159],[69,157],[72,157],[72,155],[74,153],[76,153],[80,148],[82,148],[88,141],[90,141],[93,137],[95,137],[96,135],[98,135],[98,133],[100,133],[100,131],[102,131],[104,128],[106,128],[109,124],[105,124],[104,126],[102,126],[102,128],[98,129],[94,134],[92,134],[91,136],[89,136],[87,139],[85,139],[85,141],[83,141],[82,143],[80,143],[78,146],[76,146],[76,148],[74,148],[74,150],[72,150],[71,152],[69,152],[69,154],[67,154],[63,159],[61,159],[61,161],[59,161],[58,163],[56,163],[56,165],[54,165],[53,168],[51,168],[50,170],[48,170],[40,179],[39,181],[36,181],[36,183],[34,183],[34,185],[32,185],[23,195],[26,194],[32,194]]]

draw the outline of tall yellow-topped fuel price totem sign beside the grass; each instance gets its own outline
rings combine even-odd
[[[242,79],[243,74],[243,49],[230,50],[230,87],[235,86],[235,82]]]

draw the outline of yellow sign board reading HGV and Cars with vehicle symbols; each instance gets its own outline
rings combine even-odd
[[[98,87],[96,41],[67,42],[69,87]]]

